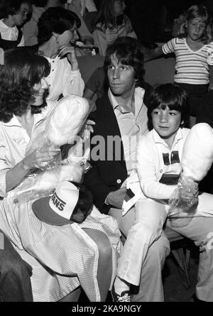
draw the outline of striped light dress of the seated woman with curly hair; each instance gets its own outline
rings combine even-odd
[[[34,126],[55,102],[40,114],[34,114]],[[56,301],[82,286],[89,300],[99,301],[97,283],[97,245],[83,228],[107,234],[112,249],[112,280],[121,251],[120,233],[113,217],[101,214],[95,207],[82,224],[62,227],[41,222],[32,211],[31,201],[14,203],[6,194],[6,172],[20,162],[30,138],[15,116],[9,123],[0,122],[0,229],[12,241],[18,254],[33,267],[31,283],[34,301]],[[37,197],[38,198],[38,197]]]

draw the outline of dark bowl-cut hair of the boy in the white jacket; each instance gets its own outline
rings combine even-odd
[[[187,92],[178,85],[167,83],[156,87],[150,99],[148,107],[148,129],[153,129],[152,112],[154,109],[165,109],[179,111],[181,113],[180,127],[184,127],[190,115]],[[183,122],[183,123],[182,123]]]

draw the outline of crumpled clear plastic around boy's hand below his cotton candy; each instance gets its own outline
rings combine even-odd
[[[168,217],[174,219],[174,226],[188,224],[194,217],[198,204],[198,184],[189,177],[180,175],[178,187],[168,201],[170,206]],[[182,221],[175,221],[182,219]]]

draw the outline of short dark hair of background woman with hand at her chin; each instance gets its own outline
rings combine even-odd
[[[41,45],[47,42],[53,32],[62,34],[70,30],[75,23],[77,28],[80,28],[80,18],[74,12],[60,6],[49,8],[38,20],[38,43]]]

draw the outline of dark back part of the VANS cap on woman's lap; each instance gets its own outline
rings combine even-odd
[[[72,216],[77,213],[78,209],[80,209],[84,214],[84,219],[86,219],[88,212],[93,205],[93,195],[84,185],[77,182],[72,183],[79,189],[79,197],[75,209],[73,209]]]

